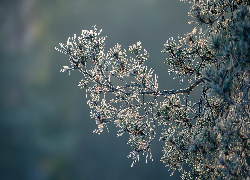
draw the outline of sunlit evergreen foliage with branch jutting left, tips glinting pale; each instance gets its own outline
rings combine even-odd
[[[68,54],[71,67],[84,79],[91,117],[101,133],[107,124],[119,127],[118,136],[128,133],[133,164],[139,153],[148,154],[155,126],[162,126],[162,161],[182,172],[182,179],[249,179],[246,158],[250,153],[250,2],[249,0],[193,0],[189,15],[196,28],[178,42],[164,45],[169,73],[192,83],[179,90],[158,90],[157,75],[144,62],[149,54],[141,42],[129,47],[135,58],[117,44],[104,53],[105,37],[94,26],[59,44]],[[229,18],[227,18],[229,17]],[[202,30],[206,29],[206,30]],[[197,32],[197,29],[199,32]],[[116,84],[119,84],[116,85]],[[201,87],[198,102],[188,101]],[[113,98],[105,96],[110,93]],[[165,100],[158,102],[158,97]],[[183,96],[184,102],[181,102]],[[183,169],[187,163],[190,172]]]

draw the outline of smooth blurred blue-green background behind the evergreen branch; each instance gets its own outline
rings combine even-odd
[[[0,0],[0,179],[180,179],[160,161],[161,132],[154,161],[141,155],[133,168],[128,136],[118,138],[113,124],[93,134],[82,75],[59,72],[70,63],[55,47],[96,25],[107,36],[106,52],[116,43],[128,52],[141,41],[159,89],[185,88],[168,75],[161,50],[170,37],[192,31],[189,9],[179,0]]]

